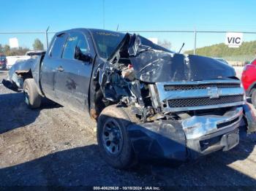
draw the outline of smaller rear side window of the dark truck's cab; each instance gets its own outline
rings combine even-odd
[[[67,39],[66,34],[60,34],[56,36],[56,39],[53,42],[53,47],[50,51],[50,56],[53,58],[61,58],[61,52],[64,47],[64,43]]]

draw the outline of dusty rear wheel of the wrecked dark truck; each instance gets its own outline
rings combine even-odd
[[[25,82],[23,83],[23,94],[25,103],[27,106],[29,106],[29,108],[39,108],[41,105],[42,96],[37,92],[37,85],[36,82],[34,82],[34,79],[25,79]]]

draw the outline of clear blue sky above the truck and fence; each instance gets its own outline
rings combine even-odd
[[[105,16],[103,2],[105,1]],[[140,30],[213,30],[256,31],[256,0],[0,0],[1,31],[61,31],[69,28],[103,28],[116,31]],[[141,34],[167,39],[177,50],[193,47],[193,34]],[[31,47],[43,35],[0,34],[0,44],[18,37],[20,45]],[[245,35],[253,40],[256,35]],[[225,34],[198,34],[197,46],[225,41]]]

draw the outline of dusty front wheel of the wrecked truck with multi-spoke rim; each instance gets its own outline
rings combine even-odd
[[[127,132],[127,126],[131,123],[132,117],[129,117],[128,112],[125,112],[124,108],[116,105],[106,107],[99,115],[97,122],[97,141],[99,145],[99,152],[103,159],[114,168],[125,169],[135,165],[134,151]],[[111,124],[114,125],[111,126]],[[108,134],[110,137],[110,131],[112,132],[113,130],[116,130],[115,128],[120,132],[117,133],[118,136],[112,136],[113,140],[115,140],[116,137],[118,139],[118,147],[115,149],[116,153],[113,152],[113,149],[109,150],[109,147],[116,143],[113,143],[114,141],[110,141],[110,144],[108,144],[110,139],[105,141],[105,137],[108,137]],[[113,135],[113,133],[111,135]]]

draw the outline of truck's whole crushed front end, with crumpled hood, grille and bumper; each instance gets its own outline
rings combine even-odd
[[[234,69],[224,63],[176,54],[127,34],[94,81],[99,85],[91,98],[132,114],[127,129],[138,159],[181,161],[239,143],[246,97]]]

